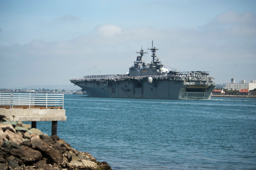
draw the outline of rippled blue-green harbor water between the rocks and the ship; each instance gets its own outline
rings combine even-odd
[[[256,99],[64,95],[58,136],[112,169],[256,169]],[[51,122],[37,122],[51,134]]]

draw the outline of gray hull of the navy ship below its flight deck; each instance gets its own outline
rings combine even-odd
[[[178,80],[127,79],[122,81],[74,82],[87,92],[88,97],[107,98],[152,98],[152,99],[211,99],[215,85],[195,85]],[[193,90],[196,92],[191,92]],[[199,90],[198,90],[199,89]]]

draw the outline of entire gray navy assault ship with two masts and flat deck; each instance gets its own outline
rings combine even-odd
[[[143,61],[144,50],[138,53],[134,65],[126,74],[92,75],[71,78],[70,82],[82,88],[88,97],[150,98],[150,99],[211,99],[215,83],[208,72],[179,72],[162,64],[152,52],[151,63]]]

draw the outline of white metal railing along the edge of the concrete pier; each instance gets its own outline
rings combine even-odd
[[[10,109],[13,106],[29,106],[32,107],[44,106],[49,107],[64,107],[64,94],[56,92],[8,92],[0,91],[0,105],[9,105]]]

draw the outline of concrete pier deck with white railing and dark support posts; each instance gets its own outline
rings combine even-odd
[[[63,93],[0,92],[0,116],[9,121],[52,121],[52,135],[57,134],[57,121],[66,121]]]

